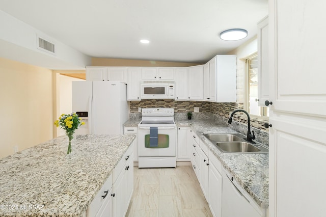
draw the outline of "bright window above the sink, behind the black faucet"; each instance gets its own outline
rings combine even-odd
[[[257,118],[268,119],[268,107],[258,106],[257,53],[246,59],[244,109]]]

